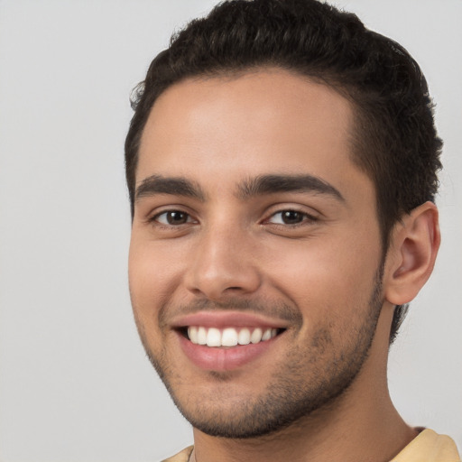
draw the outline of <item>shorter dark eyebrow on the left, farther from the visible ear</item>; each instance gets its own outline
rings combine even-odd
[[[152,175],[145,178],[135,190],[135,200],[154,196],[155,194],[171,194],[174,196],[184,196],[192,199],[204,201],[206,195],[199,184],[177,177],[163,177],[162,175]]]

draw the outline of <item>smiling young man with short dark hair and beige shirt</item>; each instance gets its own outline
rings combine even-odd
[[[169,460],[460,460],[386,383],[439,248],[441,141],[411,56],[315,0],[226,2],[134,108],[134,316],[194,428]]]

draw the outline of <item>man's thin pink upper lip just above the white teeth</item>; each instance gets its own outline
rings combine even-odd
[[[204,328],[288,328],[283,319],[267,318],[244,311],[200,311],[172,319],[172,328],[200,326]]]

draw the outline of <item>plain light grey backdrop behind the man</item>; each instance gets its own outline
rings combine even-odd
[[[0,0],[0,460],[155,461],[191,442],[144,357],[126,260],[131,88],[214,0]],[[413,425],[462,448],[462,2],[337,0],[411,51],[437,103],[443,244],[392,348]]]

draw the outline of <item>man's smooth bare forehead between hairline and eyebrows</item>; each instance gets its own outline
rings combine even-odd
[[[152,174],[211,183],[306,172],[335,178],[341,187],[346,169],[356,170],[349,155],[352,122],[345,97],[289,71],[184,80],[152,107],[136,183]]]

